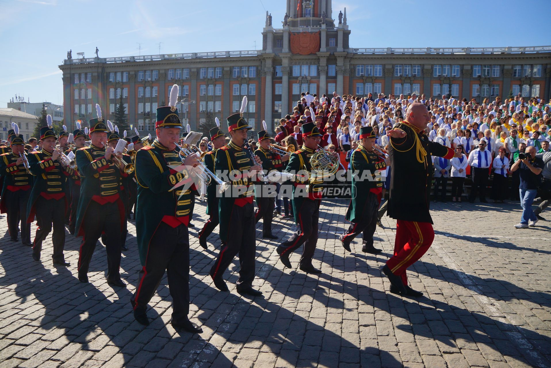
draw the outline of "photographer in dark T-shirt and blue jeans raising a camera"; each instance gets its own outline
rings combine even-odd
[[[522,207],[522,217],[520,223],[515,225],[517,229],[526,229],[528,226],[536,226],[538,218],[532,210],[532,202],[538,193],[540,184],[540,174],[543,170],[543,160],[536,157],[536,147],[526,147],[525,153],[518,154],[518,160],[511,166],[511,171],[519,170],[520,186],[520,204]]]

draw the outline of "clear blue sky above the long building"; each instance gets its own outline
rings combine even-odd
[[[296,0],[293,0],[296,4]],[[551,44],[549,2],[528,0],[374,2],[333,0],[347,8],[352,47],[498,47]],[[93,57],[262,48],[266,10],[280,28],[283,0],[0,0],[0,107],[14,95],[63,102],[69,49]],[[413,23],[410,19],[415,18]],[[440,35],[444,34],[444,37]]]

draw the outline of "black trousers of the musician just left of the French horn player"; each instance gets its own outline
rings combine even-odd
[[[230,235],[222,243],[218,259],[210,269],[210,277],[222,279],[234,257],[239,253],[239,279],[237,289],[248,289],[255,279],[255,212],[252,203],[243,207],[234,204],[229,223]]]

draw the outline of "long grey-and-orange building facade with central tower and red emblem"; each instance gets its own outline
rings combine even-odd
[[[153,133],[155,109],[180,86],[179,112],[196,129],[206,113],[225,118],[249,100],[246,118],[273,131],[300,93],[425,94],[440,97],[548,99],[551,46],[492,48],[353,48],[346,9],[332,14],[331,0],[287,0],[282,28],[271,15],[261,51],[223,51],[64,61],[66,122],[88,121],[99,103],[111,118],[123,103],[130,124]],[[332,19],[332,17],[336,19]],[[277,22],[279,23],[279,21]],[[269,123],[271,122],[271,123]]]

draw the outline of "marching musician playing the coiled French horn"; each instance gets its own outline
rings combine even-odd
[[[313,122],[302,124],[302,147],[291,154],[285,172],[297,174],[299,171],[312,171],[310,158],[321,142],[322,134]],[[316,250],[318,219],[320,215],[322,179],[307,178],[300,180],[295,176],[293,181],[293,213],[298,230],[277,247],[279,259],[285,267],[291,268],[289,254],[304,243],[304,251],[300,258],[300,269],[307,273],[321,273],[312,265]],[[307,197],[295,195],[297,190],[306,188]],[[300,191],[299,191],[300,193]],[[298,194],[298,193],[297,193]]]

